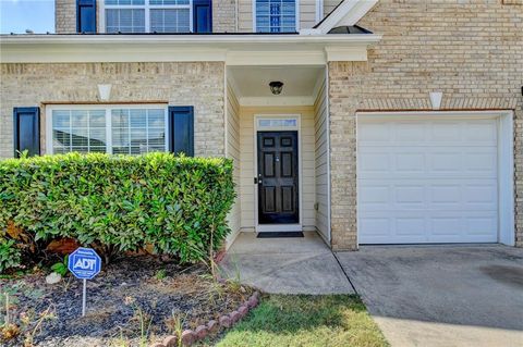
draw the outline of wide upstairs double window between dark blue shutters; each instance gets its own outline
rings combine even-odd
[[[106,33],[190,33],[192,0],[106,0]]]

